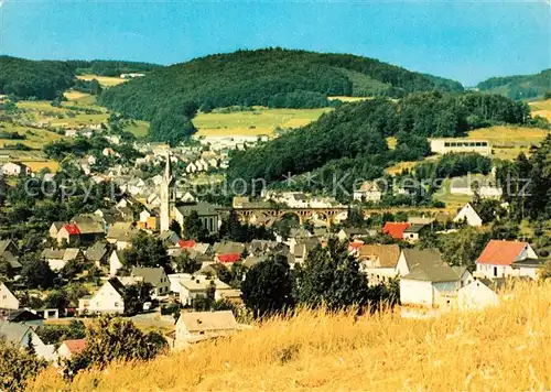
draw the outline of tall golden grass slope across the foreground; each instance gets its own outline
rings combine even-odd
[[[30,391],[543,391],[551,388],[551,282],[484,312],[404,319],[302,312],[149,363],[55,370]]]

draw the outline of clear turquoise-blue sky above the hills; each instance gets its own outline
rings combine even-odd
[[[174,64],[267,46],[474,86],[551,67],[551,0],[0,0],[0,53],[12,56]]]

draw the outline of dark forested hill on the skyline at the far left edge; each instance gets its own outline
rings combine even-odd
[[[0,56],[0,94],[54,99],[71,87],[74,69],[65,62]]]

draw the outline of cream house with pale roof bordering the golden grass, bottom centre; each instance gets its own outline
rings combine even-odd
[[[217,337],[231,336],[239,325],[231,311],[182,312],[176,322],[175,348],[185,348],[194,342]]]

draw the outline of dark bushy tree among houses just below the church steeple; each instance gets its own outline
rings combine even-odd
[[[141,231],[131,243],[131,248],[125,250],[126,265],[170,268],[170,257],[160,239]]]

